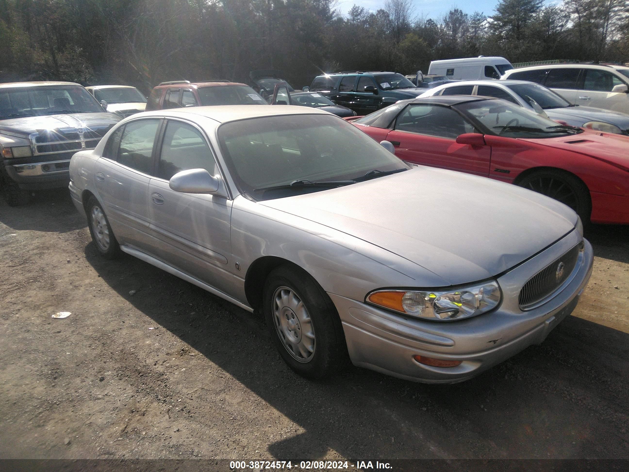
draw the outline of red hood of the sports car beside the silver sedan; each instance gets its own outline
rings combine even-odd
[[[589,155],[612,166],[629,171],[629,136],[586,131],[562,138],[524,139],[543,146]]]

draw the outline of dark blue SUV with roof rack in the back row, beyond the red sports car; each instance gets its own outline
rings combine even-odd
[[[398,100],[415,98],[426,91],[402,74],[383,70],[351,70],[315,77],[311,92],[325,95],[358,115],[368,115]]]

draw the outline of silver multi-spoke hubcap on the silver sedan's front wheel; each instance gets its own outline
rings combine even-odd
[[[273,294],[273,322],[286,351],[299,362],[311,361],[315,354],[315,329],[301,298],[288,287]]]

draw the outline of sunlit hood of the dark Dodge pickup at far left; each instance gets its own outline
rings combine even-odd
[[[57,128],[91,128],[118,123],[120,116],[111,113],[73,113],[72,115],[28,116],[0,120],[0,132],[28,137],[37,130],[55,130]]]

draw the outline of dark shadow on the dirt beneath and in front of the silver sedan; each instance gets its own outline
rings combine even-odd
[[[623,332],[568,317],[541,346],[457,385],[358,368],[312,382],[286,367],[255,315],[133,257],[106,261],[93,243],[85,254],[121,297],[303,427],[269,445],[277,459],[629,457]]]

